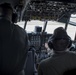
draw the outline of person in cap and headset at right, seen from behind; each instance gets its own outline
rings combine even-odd
[[[67,50],[71,44],[65,29],[56,28],[48,41],[53,55],[39,63],[38,75],[63,75],[66,70],[76,68],[76,54]]]

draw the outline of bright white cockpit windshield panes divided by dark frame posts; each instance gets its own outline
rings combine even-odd
[[[71,17],[70,18],[70,21],[75,22],[76,21],[76,18]],[[25,22],[23,21],[23,22],[19,22],[17,24],[19,26],[21,26],[22,28],[24,28]],[[39,20],[28,21],[27,22],[27,26],[26,26],[26,31],[28,33],[29,32],[34,32],[36,26],[42,27],[42,30],[43,30],[44,21],[39,21]],[[63,27],[63,28],[65,28],[65,24],[64,23],[60,23],[60,22],[56,22],[56,21],[48,21],[45,32],[50,33],[50,34],[53,34],[53,31],[57,27]],[[76,31],[76,26],[68,24],[67,33],[72,38],[72,40],[74,40],[75,31]]]

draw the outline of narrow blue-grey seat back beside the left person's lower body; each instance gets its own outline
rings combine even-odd
[[[25,65],[25,75],[34,75],[34,58],[32,51],[28,51]]]

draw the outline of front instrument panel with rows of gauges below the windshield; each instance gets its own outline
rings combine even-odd
[[[28,33],[30,44],[31,46],[34,46],[36,50],[44,50],[45,43],[51,35],[52,34],[47,34],[46,32],[43,35],[41,33]]]

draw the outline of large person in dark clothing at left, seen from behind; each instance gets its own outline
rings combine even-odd
[[[24,75],[28,37],[12,18],[11,4],[0,4],[0,75]]]

